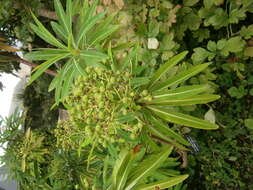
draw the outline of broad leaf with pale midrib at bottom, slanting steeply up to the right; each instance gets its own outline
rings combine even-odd
[[[172,149],[172,146],[168,147],[161,151],[161,153],[150,156],[141,162],[136,168],[133,168],[124,190],[131,190],[134,186],[138,185],[138,183],[141,183],[145,177],[151,175],[154,170],[162,165]]]

